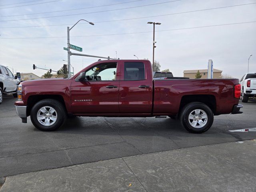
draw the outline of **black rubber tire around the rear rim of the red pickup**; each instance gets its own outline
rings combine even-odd
[[[203,119],[204,119],[204,121],[206,121],[205,125],[202,126],[201,128],[196,128],[196,127],[190,125],[189,115],[196,109],[204,111],[207,115],[207,121],[205,118],[202,118],[202,120],[200,118],[201,121],[203,121]],[[196,114],[194,116],[196,116],[196,118],[199,118],[199,116],[197,116]],[[196,120],[196,118],[195,118],[195,120]],[[185,105],[180,114],[180,121],[181,121],[182,125],[184,126],[184,128],[186,130],[188,130],[191,133],[206,132],[212,126],[213,119],[214,119],[214,117],[213,117],[212,110],[206,104],[201,103],[201,102],[191,102],[191,103]],[[194,122],[194,121],[192,120],[191,123],[192,122]],[[200,126],[199,123],[196,123],[195,126]]]

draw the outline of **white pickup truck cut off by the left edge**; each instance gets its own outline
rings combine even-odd
[[[20,80],[5,66],[0,65],[0,104],[3,101],[3,95],[12,94],[17,97],[17,84]]]

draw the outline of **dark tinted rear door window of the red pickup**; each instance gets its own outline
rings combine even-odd
[[[124,80],[136,81],[145,79],[145,66],[142,62],[124,62]]]

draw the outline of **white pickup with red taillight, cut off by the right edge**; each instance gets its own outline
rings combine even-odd
[[[256,98],[256,73],[246,73],[240,80],[242,102],[247,103],[249,98]]]

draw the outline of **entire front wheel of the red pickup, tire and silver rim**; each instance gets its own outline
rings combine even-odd
[[[41,131],[58,129],[67,118],[63,104],[54,99],[44,99],[37,102],[30,111],[33,125]]]

